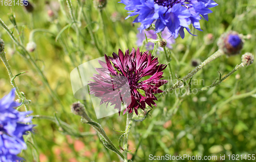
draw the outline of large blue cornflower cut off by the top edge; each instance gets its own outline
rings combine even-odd
[[[126,18],[138,15],[134,22],[141,22],[140,31],[156,21],[155,33],[167,27],[175,38],[179,34],[184,38],[184,28],[190,33],[190,24],[202,31],[199,20],[202,17],[208,20],[207,14],[212,12],[209,8],[218,5],[214,0],[121,0],[120,3],[126,5],[125,10],[133,11]]]

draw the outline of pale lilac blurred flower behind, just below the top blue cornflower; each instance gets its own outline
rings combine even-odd
[[[145,31],[145,33],[146,33],[147,39],[149,39],[149,38],[157,39],[157,34],[155,34],[153,30]],[[139,32],[139,33],[137,34],[137,38],[138,38],[138,40],[137,40],[137,45],[138,45],[138,46],[141,46],[142,43],[143,43],[143,40],[146,39],[145,33],[144,33],[144,32],[141,32],[141,33]],[[175,39],[174,39],[174,37],[172,36],[172,34],[170,34],[170,33],[168,32],[167,29],[164,29],[164,31],[162,32],[162,38],[167,41],[166,47],[167,47],[168,49],[172,49],[173,47],[172,47],[171,44],[174,44],[174,43],[175,43]],[[153,49],[154,49],[154,45],[155,45],[155,44],[154,44],[153,42],[147,42],[147,43],[145,44],[146,50],[149,50],[149,51],[150,51],[150,50],[153,50]],[[159,47],[158,49],[161,50],[161,51],[163,51],[163,48],[160,48],[160,47]]]

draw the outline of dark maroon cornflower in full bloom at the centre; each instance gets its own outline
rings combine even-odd
[[[154,58],[148,51],[140,52],[139,48],[137,50],[133,48],[131,54],[129,54],[129,50],[123,54],[119,49],[118,55],[115,53],[113,53],[113,57],[105,55],[105,61],[106,63],[99,61],[102,68],[96,68],[99,74],[94,74],[92,79],[95,82],[89,83],[90,94],[99,97],[100,104],[115,105],[119,114],[122,103],[126,104],[123,114],[126,111],[129,113],[135,111],[138,114],[138,109],[144,110],[146,104],[151,107],[152,104],[157,106],[154,102],[157,101],[154,94],[163,92],[159,87],[167,83],[167,80],[161,79],[166,65],[158,65],[158,58]],[[142,80],[146,76],[151,77]],[[129,88],[125,88],[124,84],[129,85]],[[115,90],[113,91],[113,89]],[[144,91],[143,95],[141,94],[142,90]]]

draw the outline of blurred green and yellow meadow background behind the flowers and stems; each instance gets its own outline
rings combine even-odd
[[[77,23],[69,28],[72,22],[66,1],[29,1],[34,6],[33,12],[27,12],[24,6],[1,6],[0,18],[14,31],[15,37],[22,40],[24,46],[29,42],[33,29],[46,29],[51,33],[36,32],[33,41],[36,49],[30,53],[36,65],[46,76],[52,89],[44,84],[35,67],[22,57],[7,32],[1,28],[0,37],[4,39],[6,57],[13,74],[29,72],[15,79],[19,89],[31,100],[29,109],[32,115],[47,115],[47,119],[34,119],[36,124],[33,141],[20,156],[26,161],[119,161],[118,156],[104,148],[97,135],[79,136],[79,132],[95,132],[90,125],[80,122],[80,118],[70,110],[76,102],[70,83],[70,72],[79,64],[96,59],[120,48],[137,48],[137,28],[133,24],[135,17],[125,20],[127,11],[123,4],[116,0],[108,1],[102,10],[103,28],[100,12],[92,1],[72,1],[74,17]],[[203,32],[193,30],[194,37],[185,33],[185,38],[178,37],[171,50],[173,55],[173,73],[178,78],[184,77],[193,70],[191,61],[203,61],[218,50],[218,37],[225,31],[234,30],[250,37],[247,39],[241,54],[255,54],[256,41],[256,1],[229,0],[216,1],[219,6],[212,8],[209,21],[201,20]],[[61,5],[59,5],[61,4]],[[79,4],[83,4],[81,8]],[[1,4],[0,4],[1,5]],[[10,16],[15,14],[19,34],[14,30]],[[86,17],[86,19],[84,18]],[[76,26],[79,36],[77,37]],[[63,30],[62,30],[63,29]],[[65,29],[65,30],[64,30]],[[63,31],[60,33],[60,31]],[[91,31],[91,33],[90,33]],[[104,33],[105,32],[105,39]],[[205,45],[204,37],[211,33],[214,42]],[[58,35],[59,34],[59,35]],[[95,36],[96,45],[90,34]],[[56,36],[58,40],[56,41]],[[142,50],[142,49],[141,49]],[[145,49],[143,49],[145,51]],[[200,53],[197,53],[198,51]],[[185,61],[181,61],[187,53]],[[196,55],[196,57],[195,57]],[[160,63],[165,63],[163,53],[156,54]],[[210,85],[228,74],[241,63],[241,55],[222,56],[208,65],[193,77],[204,80],[201,88]],[[173,94],[159,97],[155,107],[142,122],[135,122],[129,136],[129,158],[134,161],[150,161],[149,155],[201,155],[218,157],[226,154],[256,154],[256,94],[245,94],[256,88],[255,63],[243,67],[227,78],[219,86],[196,94]],[[4,64],[0,63],[0,97],[12,88]],[[168,79],[168,70],[164,71]],[[166,85],[164,88],[166,88]],[[57,97],[54,97],[56,94]],[[231,100],[232,98],[238,98]],[[230,99],[231,98],[231,99]],[[124,130],[126,115],[118,113],[97,120],[89,100],[80,101],[86,105],[90,117],[101,124],[106,134],[118,147],[121,133],[113,130]],[[24,111],[24,107],[20,110]],[[209,113],[210,112],[210,113]],[[144,116],[141,111],[140,118]],[[61,128],[56,119],[66,122],[76,131],[69,133]],[[57,124],[56,124],[57,123]],[[73,131],[72,130],[72,131]],[[160,160],[161,161],[161,160]],[[164,160],[162,160],[164,161]],[[181,160],[182,161],[182,160]],[[187,161],[187,160],[184,160]],[[223,161],[223,160],[215,160]],[[244,160],[240,160],[244,161]]]

